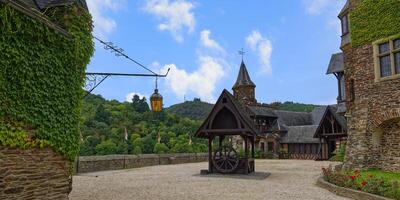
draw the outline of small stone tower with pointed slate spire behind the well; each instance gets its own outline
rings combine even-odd
[[[236,83],[232,87],[233,95],[239,102],[245,105],[256,104],[255,88],[256,85],[251,81],[246,65],[242,60]]]

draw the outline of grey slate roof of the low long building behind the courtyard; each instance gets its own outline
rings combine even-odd
[[[288,131],[281,137],[280,143],[319,143],[318,138],[314,138],[318,125],[309,126],[290,126]]]

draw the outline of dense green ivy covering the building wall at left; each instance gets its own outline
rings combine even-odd
[[[44,14],[70,37],[0,3],[0,145],[50,146],[73,160],[92,19],[75,5]]]

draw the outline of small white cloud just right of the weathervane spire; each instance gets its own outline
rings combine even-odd
[[[264,38],[259,31],[252,31],[246,38],[246,44],[256,52],[261,63],[261,73],[270,74],[272,72],[271,54],[272,44]]]

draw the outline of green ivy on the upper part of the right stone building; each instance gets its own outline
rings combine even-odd
[[[362,46],[400,33],[400,0],[361,0],[350,13],[353,46]]]

